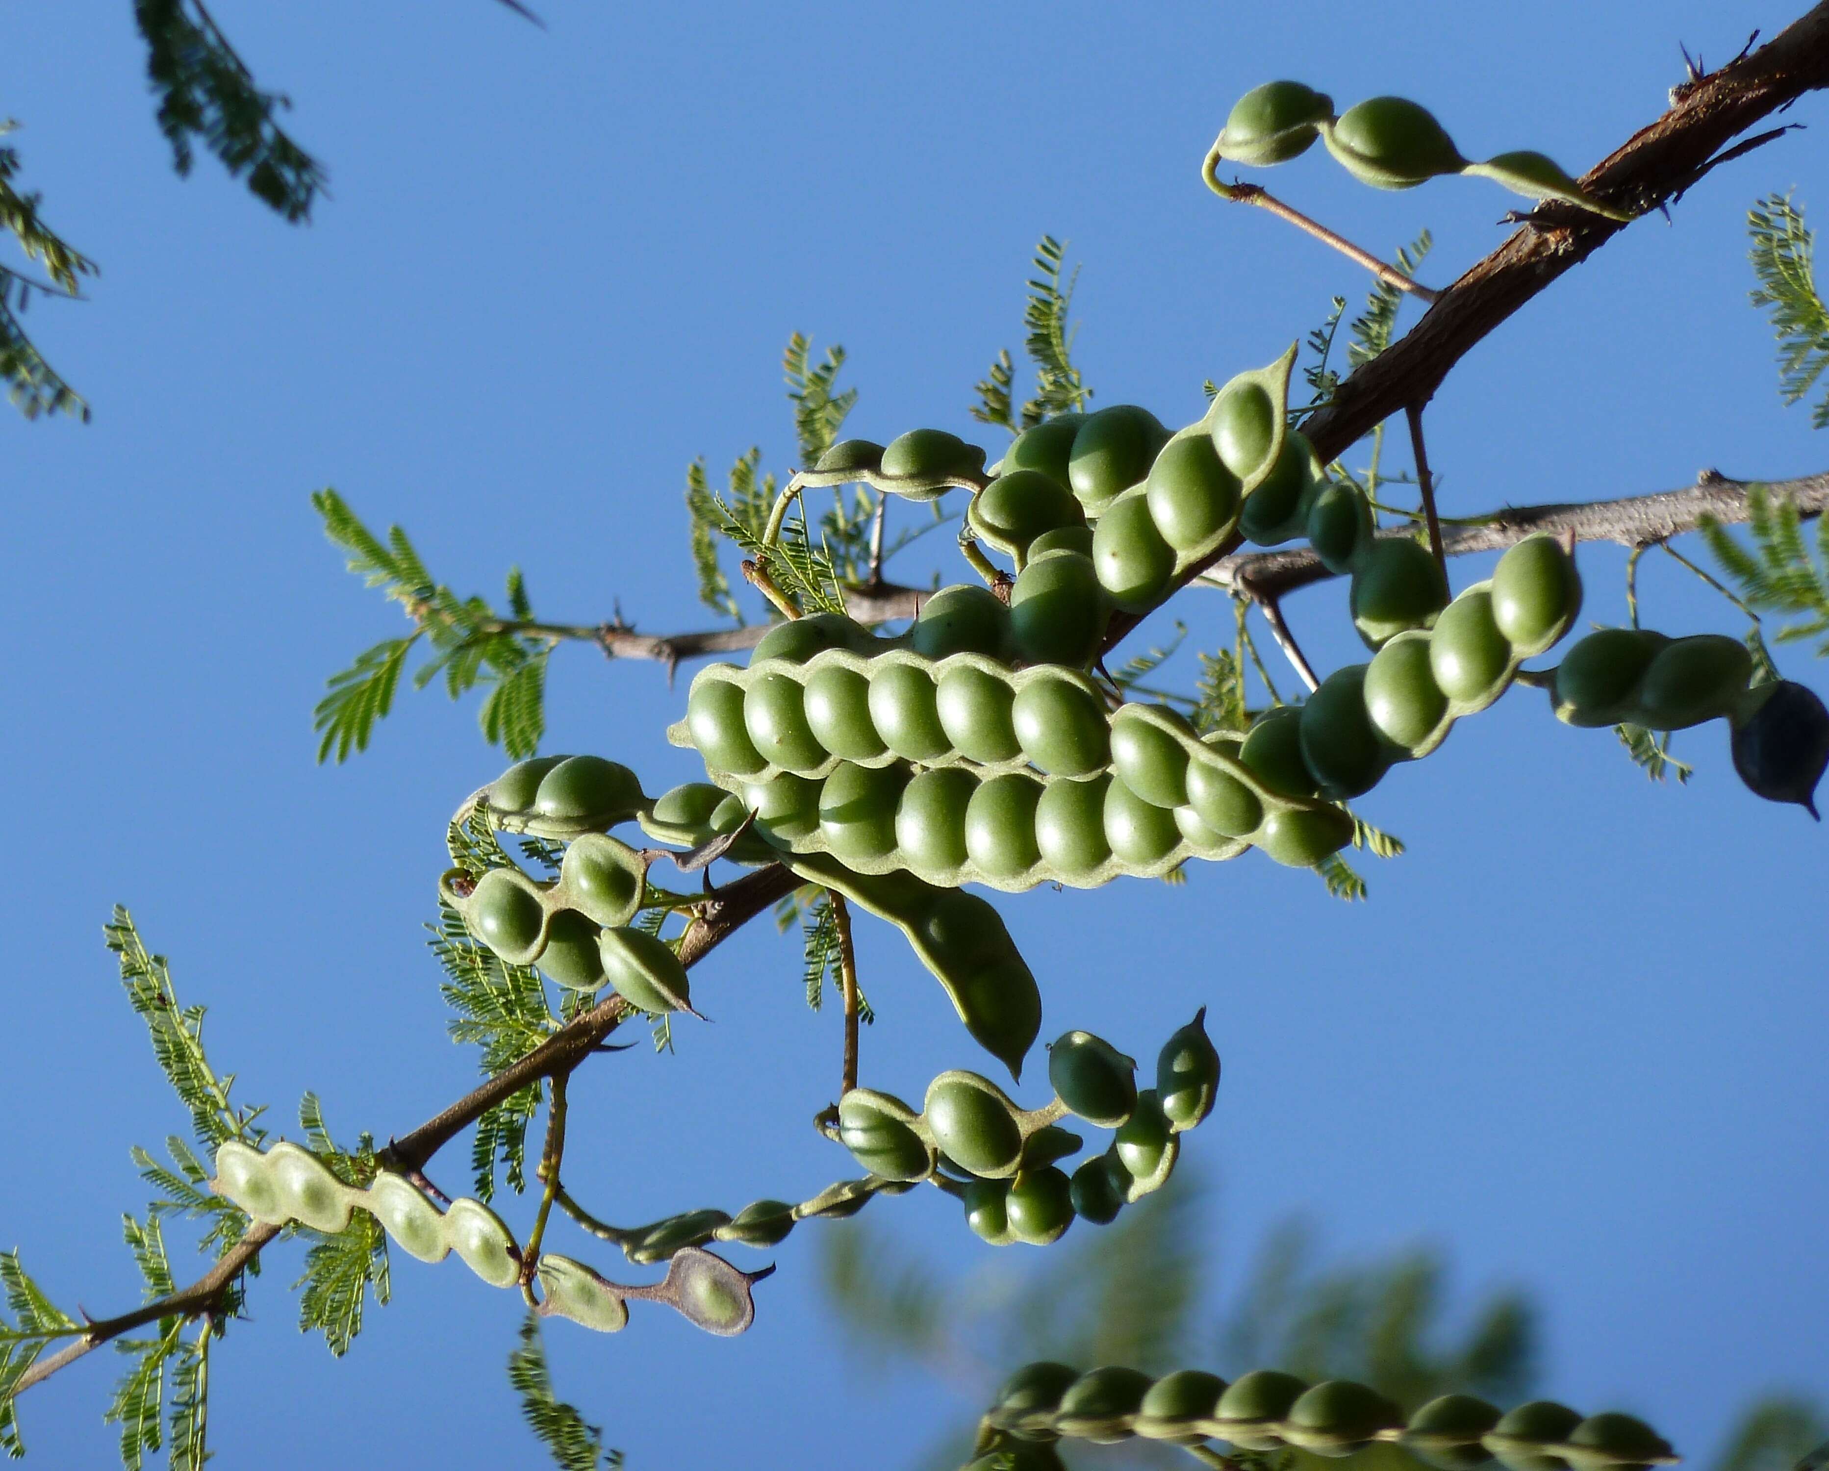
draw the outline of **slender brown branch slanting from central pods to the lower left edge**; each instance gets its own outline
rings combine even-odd
[[[768,909],[777,898],[792,893],[797,886],[799,878],[779,864],[772,864],[710,895],[699,906],[699,915],[680,942],[680,962],[688,968],[697,964],[732,933],[763,913],[763,909]],[[576,1068],[631,1010],[620,995],[611,995],[589,1012],[572,1017],[518,1063],[497,1072],[481,1087],[472,1089],[448,1109],[421,1123],[406,1138],[393,1140],[380,1151],[380,1164],[399,1171],[421,1169],[457,1133],[476,1123],[477,1118],[501,1100],[510,1098],[540,1078],[554,1078]],[[262,1248],[280,1235],[280,1229],[278,1226],[254,1222],[249,1233],[190,1286],[119,1317],[97,1319],[73,1343],[59,1348],[55,1354],[46,1354],[27,1369],[13,1387],[13,1394],[24,1394],[33,1385],[49,1380],[59,1369],[75,1363],[110,1339],[121,1337],[121,1334],[128,1334],[146,1323],[155,1323],[161,1317],[199,1317],[221,1310],[236,1279],[260,1255]]]

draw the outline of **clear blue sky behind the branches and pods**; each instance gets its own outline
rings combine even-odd
[[[1542,148],[1580,172],[1664,106],[1679,42],[1721,62],[1803,4],[547,0],[547,31],[485,0],[212,9],[331,168],[307,229],[212,159],[174,177],[124,4],[13,0],[0,44],[26,183],[102,265],[90,304],[27,318],[93,424],[0,417],[0,1244],[95,1314],[137,1294],[128,1145],[185,1125],[101,946],[112,904],[280,1120],[313,1089],[340,1134],[386,1138],[474,1081],[421,924],[446,816],[503,761],[474,704],[402,692],[366,756],[313,763],[324,677],[401,622],[342,573],[311,490],[408,527],[459,591],[494,595],[519,564],[545,617],[702,626],[684,468],[706,456],[721,476],[750,445],[790,463],[790,331],[849,349],[852,432],[969,434],[971,384],[1021,346],[1028,256],[1054,232],[1085,263],[1097,403],[1187,423],[1202,379],[1273,359],[1332,295],[1366,289],[1200,187],[1246,88],[1399,91],[1471,156]],[[1792,117],[1811,130],[1717,170],[1670,223],[1635,223],[1469,355],[1428,412],[1447,512],[1663,490],[1701,467],[1829,468],[1829,439],[1780,406],[1747,304],[1747,205],[1792,187],[1829,203],[1822,99]],[[1434,284],[1496,245],[1514,203],[1480,181],[1377,194],[1319,148],[1267,183],[1379,251],[1430,227]],[[1622,562],[1584,553],[1586,617],[1624,620]],[[935,567],[966,574],[933,543],[904,573]],[[1456,585],[1483,574],[1454,567]],[[1670,633],[1739,631],[1664,558],[1642,596]],[[1289,615],[1317,662],[1363,659],[1341,589]],[[1209,642],[1229,626],[1216,596],[1172,617]],[[1829,688],[1803,651],[1781,660]],[[682,695],[658,666],[562,650],[547,748],[615,756],[649,790],[690,779],[697,759],[662,737]],[[1465,1299],[1522,1284],[1547,1312],[1544,1389],[1644,1414],[1692,1456],[1759,1390],[1829,1396],[1825,836],[1741,789],[1719,725],[1677,754],[1695,781],[1653,787],[1611,734],[1518,690],[1363,801],[1410,845],[1368,867],[1368,904],[1258,854],[1194,865],[1185,887],[999,900],[1043,981],[1044,1039],[1090,1026],[1150,1058],[1211,1006],[1225,1083],[1187,1158],[1220,1182],[1214,1332],[1251,1246],[1306,1213],[1346,1257],[1447,1246]],[[882,1017],[865,1081],[918,1098],[933,1072],[984,1065],[883,926],[861,961]],[[755,926],[693,992],[717,1021],[679,1028],[679,1056],[638,1048],[572,1087],[569,1184],[611,1219],[852,1173],[807,1127],[836,1087],[840,1019],[801,1004],[796,942]],[[465,1153],[433,1167],[446,1189]],[[525,1233],[530,1202],[507,1215]],[[931,1191],[871,1217],[960,1272],[1041,1257],[982,1246]],[[819,1229],[768,1253],[781,1272],[746,1337],[660,1310],[616,1337],[549,1330],[560,1390],[635,1467],[898,1464],[975,1405],[847,1348],[819,1303]],[[565,1229],[552,1244],[638,1275]],[[501,1372],[512,1294],[397,1257],[393,1306],[337,1363],[293,1328],[296,1272],[298,1248],[274,1253],[214,1361],[219,1464],[538,1464]],[[112,1359],[22,1401],[38,1464],[110,1462]]]

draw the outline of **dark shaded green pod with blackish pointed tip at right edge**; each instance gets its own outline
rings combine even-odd
[[[1549,699],[1556,719],[1575,726],[1685,730],[1725,719],[1749,790],[1814,818],[1816,783],[1829,767],[1829,710],[1809,686],[1750,681],[1752,655],[1736,639],[1602,628],[1551,671]]]

